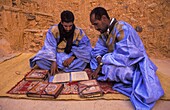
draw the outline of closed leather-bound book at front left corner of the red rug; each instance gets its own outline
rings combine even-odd
[[[26,95],[28,97],[57,98],[63,88],[63,84],[54,84],[43,81],[36,84],[26,93]]]

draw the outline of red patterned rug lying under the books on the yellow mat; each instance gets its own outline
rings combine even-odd
[[[88,76],[91,74],[90,69],[85,69]],[[7,93],[9,94],[26,94],[26,92],[32,88],[38,81],[26,81],[22,79],[18,82],[14,87],[12,87]],[[103,93],[118,93],[117,91],[112,90],[113,83],[112,82],[98,82]],[[64,83],[64,89],[62,90],[61,94],[78,94],[78,82],[69,82]]]

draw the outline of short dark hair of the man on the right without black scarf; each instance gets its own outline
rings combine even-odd
[[[96,8],[94,8],[94,9],[91,11],[91,13],[90,13],[90,18],[91,18],[91,16],[92,16],[93,14],[95,15],[95,19],[97,19],[97,20],[101,20],[101,17],[102,17],[103,15],[106,15],[106,17],[107,17],[108,19],[110,19],[109,15],[108,15],[108,13],[107,13],[107,11],[106,11],[106,9],[104,9],[103,7],[96,7]]]

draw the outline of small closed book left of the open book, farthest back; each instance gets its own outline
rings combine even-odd
[[[48,77],[48,70],[33,69],[25,76],[25,80],[42,81]]]

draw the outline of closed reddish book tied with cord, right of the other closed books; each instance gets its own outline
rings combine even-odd
[[[96,80],[81,81],[78,83],[78,92],[82,98],[99,97],[103,91]]]

